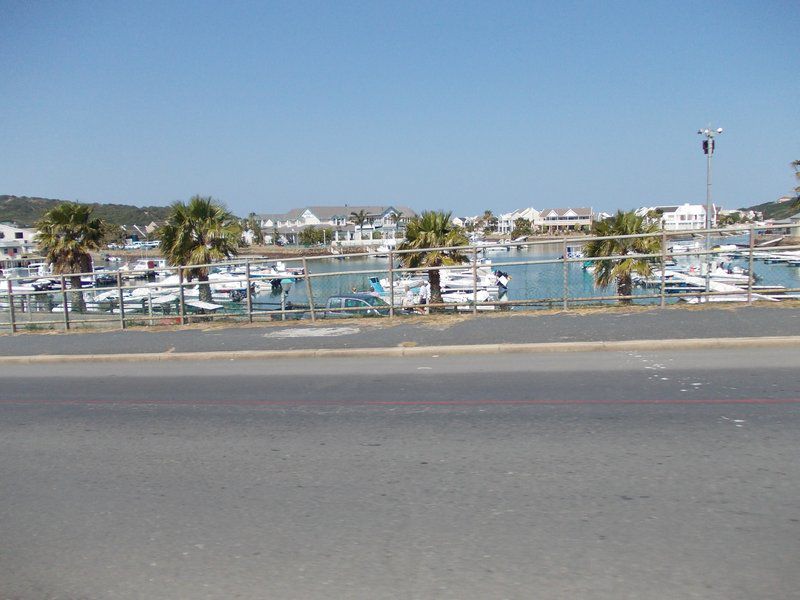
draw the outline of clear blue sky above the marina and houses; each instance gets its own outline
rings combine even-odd
[[[0,194],[239,215],[774,200],[800,2],[0,0]],[[0,215],[0,218],[2,215]]]

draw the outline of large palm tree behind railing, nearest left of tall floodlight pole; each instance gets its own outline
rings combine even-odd
[[[625,256],[629,254],[656,254],[661,251],[661,239],[657,235],[640,238],[621,238],[619,236],[642,233],[659,233],[658,224],[648,224],[644,217],[637,217],[633,211],[622,212],[605,221],[598,221],[592,227],[593,235],[609,239],[592,240],[584,247],[586,256]],[[649,259],[631,256],[594,261],[595,283],[599,286],[617,284],[617,295],[630,296],[633,293],[633,273],[648,276],[652,273]],[[621,300],[630,304],[630,298]]]

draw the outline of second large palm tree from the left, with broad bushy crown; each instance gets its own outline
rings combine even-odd
[[[236,217],[211,197],[193,196],[188,204],[175,202],[161,226],[161,253],[175,266],[198,265],[188,271],[189,281],[208,281],[208,265],[238,253],[242,234]],[[200,284],[200,299],[211,302],[211,287]]]

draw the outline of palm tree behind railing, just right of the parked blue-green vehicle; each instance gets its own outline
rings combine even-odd
[[[415,250],[401,254],[400,261],[406,268],[446,267],[464,262],[460,250],[448,250],[453,246],[466,246],[469,242],[459,227],[450,220],[452,213],[425,211],[412,217],[406,225],[406,239],[398,250]],[[433,248],[433,250],[427,250]],[[429,268],[431,304],[442,302],[439,269]]]

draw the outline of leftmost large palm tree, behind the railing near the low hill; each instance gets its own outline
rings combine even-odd
[[[53,273],[88,273],[92,270],[91,250],[98,250],[105,226],[100,219],[92,219],[92,208],[85,204],[64,202],[47,211],[36,223],[39,230],[36,241]],[[70,277],[70,287],[81,288],[81,276]],[[86,310],[83,293],[72,295],[72,309]],[[67,310],[67,307],[64,307]]]

